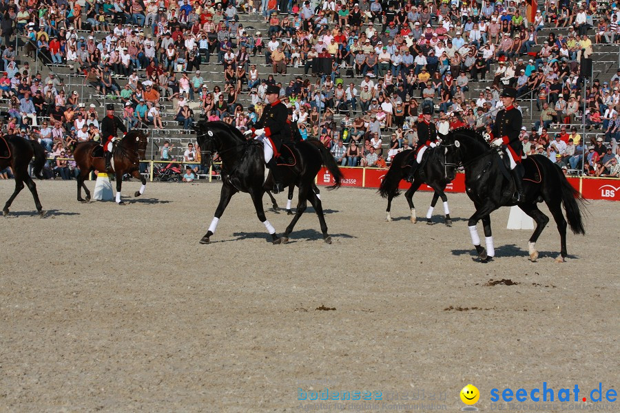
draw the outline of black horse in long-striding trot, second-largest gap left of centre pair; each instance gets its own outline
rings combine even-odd
[[[237,192],[247,192],[250,194],[258,220],[267,228],[273,244],[288,242],[293,227],[307,208],[307,201],[310,201],[318,215],[323,240],[331,244],[331,237],[327,234],[327,224],[323,216],[321,201],[316,196],[316,193],[311,190],[314,178],[316,178],[316,174],[323,164],[329,169],[335,180],[335,184],[328,187],[328,189],[340,187],[342,172],[327,149],[308,141],[298,142],[290,146],[291,158],[293,159],[292,165],[278,166],[278,168],[282,169],[282,183],[285,187],[290,185],[299,187],[296,214],[289,226],[287,226],[282,238],[279,238],[276,235],[276,229],[265,218],[265,211],[262,208],[262,196],[265,195],[267,188],[273,187],[271,174],[265,178],[265,160],[263,159],[262,143],[256,140],[247,140],[238,129],[224,122],[200,120],[194,125],[194,129],[196,129],[198,134],[196,140],[200,146],[203,158],[210,158],[217,151],[222,160],[223,185],[220,192],[220,202],[213,221],[209,226],[209,231],[200,240],[201,244],[209,244],[210,237],[215,233],[220,217],[232,196]],[[282,151],[287,151],[287,149],[282,147]]]

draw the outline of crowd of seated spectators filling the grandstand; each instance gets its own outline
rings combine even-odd
[[[130,128],[163,129],[171,119],[191,131],[202,117],[245,130],[260,118],[267,87],[278,85],[302,138],[320,139],[341,165],[380,167],[415,149],[423,108],[440,134],[488,131],[499,92],[510,86],[540,112],[523,131],[524,153],[543,153],[571,171],[620,176],[620,68],[586,85],[579,65],[592,56],[592,43],[620,43],[619,10],[597,1],[533,4],[2,2],[2,131],[39,140],[55,158],[56,175],[70,179],[74,144],[101,139],[97,108],[79,90],[114,98]],[[268,29],[245,28],[242,14],[257,15]],[[35,72],[32,61],[51,72]],[[214,64],[223,72],[219,85],[203,76]],[[56,65],[70,67],[72,87],[54,76]],[[278,81],[291,66],[305,76]],[[582,123],[598,133],[582,138]],[[550,136],[550,129],[559,131]]]

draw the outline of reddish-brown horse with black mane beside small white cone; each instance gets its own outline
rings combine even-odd
[[[141,130],[134,129],[127,132],[121,142],[114,148],[114,173],[116,175],[116,203],[124,205],[121,200],[121,186],[123,185],[123,175],[130,173],[134,178],[142,182],[140,191],[136,191],[134,196],[140,196],[144,193],[146,187],[146,179],[140,174],[140,160],[144,160],[146,156],[147,135]],[[101,151],[99,154],[97,151]],[[103,149],[99,142],[80,142],[73,151],[73,157],[80,169],[77,177],[78,183],[78,200],[80,202],[88,202],[90,200],[90,191],[84,184],[84,180],[91,171],[105,171],[105,159],[103,158]],[[82,188],[86,193],[86,199],[82,198]]]

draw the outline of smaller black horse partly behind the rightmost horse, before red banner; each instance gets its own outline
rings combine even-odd
[[[390,169],[381,181],[379,193],[383,198],[388,199],[388,206],[386,209],[387,222],[392,220],[390,215],[392,199],[400,195],[398,185],[400,184],[400,180],[409,174],[409,169],[411,168],[410,160],[412,156],[415,156],[415,151],[402,151],[397,153],[392,158]],[[411,209],[411,222],[414,224],[416,218],[415,206],[413,205],[413,194],[422,184],[427,184],[435,190],[435,193],[433,194],[431,207],[428,208],[428,212],[426,213],[426,223],[429,225],[433,224],[433,221],[431,220],[433,209],[435,209],[437,199],[441,197],[444,202],[446,225],[452,226],[450,210],[448,209],[448,197],[446,197],[444,189],[446,189],[446,185],[452,182],[456,176],[457,164],[451,159],[453,156],[453,153],[448,151],[448,148],[442,146],[441,144],[435,148],[426,149],[426,153],[424,153],[426,160],[424,160],[422,167],[418,168],[415,172],[413,183],[405,192],[405,198],[409,203],[409,209]]]

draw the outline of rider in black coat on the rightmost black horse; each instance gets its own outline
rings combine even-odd
[[[497,112],[493,131],[491,132],[491,145],[496,147],[506,145],[508,149],[506,153],[510,160],[510,175],[513,176],[515,186],[517,187],[517,193],[514,195],[513,200],[514,202],[521,202],[524,199],[524,194],[517,165],[521,163],[521,156],[523,156],[523,144],[521,139],[519,139],[521,125],[523,125],[523,116],[519,109],[513,106],[517,99],[516,89],[504,87],[504,91],[499,98],[502,99],[504,109]]]

